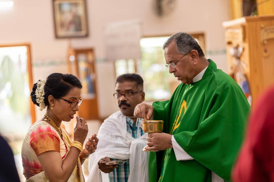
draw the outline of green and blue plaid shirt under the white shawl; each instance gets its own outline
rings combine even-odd
[[[144,135],[140,123],[142,122],[141,118],[137,118],[135,125],[133,127],[134,121],[130,117],[126,117],[126,130],[133,138],[139,138]],[[110,159],[110,160],[119,160],[119,159]],[[129,176],[129,160],[121,165],[118,165],[111,173],[109,173],[110,182],[127,182]]]

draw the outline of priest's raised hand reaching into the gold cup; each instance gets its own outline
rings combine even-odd
[[[143,120],[149,120],[152,117],[153,112],[154,112],[153,106],[149,104],[141,103],[135,107],[134,116],[138,118],[142,118]]]

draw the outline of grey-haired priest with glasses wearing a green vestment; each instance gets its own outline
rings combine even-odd
[[[250,106],[239,85],[184,32],[165,42],[166,67],[182,83],[170,100],[142,103],[134,116],[164,121],[149,133],[150,182],[231,181]]]

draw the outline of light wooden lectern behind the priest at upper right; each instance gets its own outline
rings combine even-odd
[[[246,16],[223,22],[228,68],[231,47],[243,47],[240,60],[249,82],[252,106],[263,90],[274,85],[274,15]]]

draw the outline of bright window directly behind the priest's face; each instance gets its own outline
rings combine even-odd
[[[146,100],[170,98],[172,94],[170,82],[178,82],[165,66],[166,61],[162,47],[167,39],[168,37],[152,37],[140,40],[142,58],[138,72],[144,79]]]

